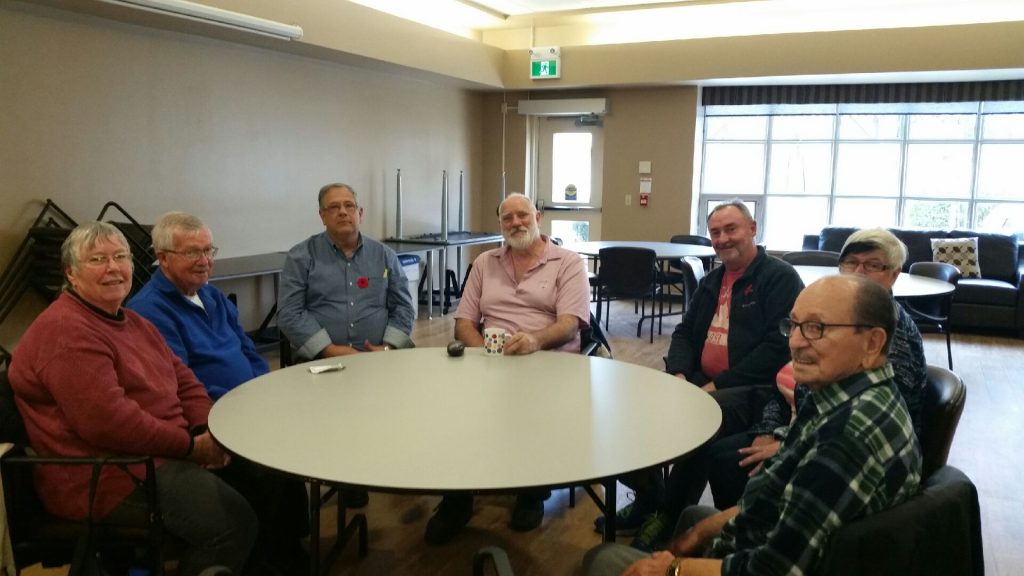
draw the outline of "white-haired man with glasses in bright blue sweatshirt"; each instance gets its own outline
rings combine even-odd
[[[153,228],[153,248],[160,269],[128,307],[156,325],[210,398],[216,402],[231,388],[267,373],[266,361],[239,324],[238,308],[208,284],[217,247],[203,220],[183,212],[164,214]],[[308,504],[303,482],[240,457],[218,474],[246,497],[259,519],[255,548],[259,551],[254,553],[259,566],[252,570],[268,574],[305,570],[308,557],[301,538],[308,533]]]

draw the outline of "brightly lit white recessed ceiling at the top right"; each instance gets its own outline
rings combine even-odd
[[[350,0],[502,49],[1024,20],[1024,0]]]

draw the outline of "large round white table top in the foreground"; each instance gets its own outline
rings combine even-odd
[[[333,361],[332,361],[333,360]],[[673,460],[722,414],[674,376],[613,360],[469,348],[360,354],[276,370],[221,398],[210,430],[272,468],[386,491],[595,482]]]

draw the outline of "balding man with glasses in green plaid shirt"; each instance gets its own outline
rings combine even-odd
[[[886,359],[895,322],[888,292],[859,276],[807,287],[779,329],[812,395],[778,454],[736,506],[684,510],[668,551],[605,544],[587,554],[584,573],[814,574],[841,526],[913,495],[921,447]]]

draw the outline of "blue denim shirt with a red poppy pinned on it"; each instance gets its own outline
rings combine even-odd
[[[281,273],[278,324],[302,358],[329,344],[364,341],[411,347],[413,298],[391,248],[359,235],[351,258],[326,232],[288,251]]]

